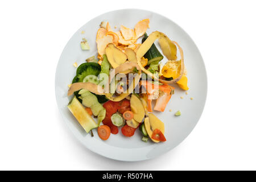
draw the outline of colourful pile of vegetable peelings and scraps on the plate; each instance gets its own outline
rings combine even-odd
[[[166,109],[175,85],[188,90],[188,79],[179,44],[159,31],[147,35],[149,23],[149,19],[143,19],[134,29],[121,26],[119,31],[114,31],[109,22],[101,22],[96,37],[97,58],[89,57],[77,68],[76,76],[69,85],[68,96],[74,96],[68,109],[92,136],[92,129],[97,128],[98,136],[107,140],[110,134],[118,134],[118,127],[121,127],[123,135],[132,137],[139,128],[144,142],[148,138],[156,143],[166,141],[164,123],[153,110],[163,112]],[[137,43],[142,36],[142,42]],[[163,55],[154,44],[156,39],[168,59],[166,64],[160,63]],[[81,42],[81,49],[90,49],[86,39]],[[180,59],[177,59],[177,51]],[[114,93],[99,92],[102,82],[113,81],[110,80],[110,72],[114,75],[137,73],[137,76],[132,83],[114,79]],[[101,77],[101,73],[107,77]],[[154,81],[142,80],[142,74]],[[123,89],[124,85],[129,90]],[[109,89],[104,84],[100,87]],[[135,93],[135,87],[146,88],[146,92]]]

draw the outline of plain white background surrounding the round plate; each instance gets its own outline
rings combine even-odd
[[[1,1],[0,169],[256,169],[254,1]],[[174,150],[118,162],[80,144],[61,119],[55,71],[69,38],[88,20],[137,8],[167,16],[205,61],[201,119]]]

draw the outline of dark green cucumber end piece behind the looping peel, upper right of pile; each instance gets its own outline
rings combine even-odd
[[[144,37],[142,39],[142,43],[147,39],[147,34],[144,34]],[[152,44],[150,49],[145,53],[145,58],[147,58],[148,62],[147,65],[150,65],[154,61],[157,61],[157,63],[163,59],[163,55],[158,51],[158,48],[156,48],[155,44]]]

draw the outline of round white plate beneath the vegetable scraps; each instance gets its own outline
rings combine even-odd
[[[76,68],[72,64],[77,62],[80,65],[85,63],[86,58],[93,55],[97,56],[96,33],[99,24],[103,20],[108,21],[114,31],[118,31],[121,25],[134,28],[139,20],[146,18],[150,19],[150,28],[147,30],[148,34],[158,30],[166,34],[171,40],[179,43],[184,51],[185,67],[187,68],[188,94],[178,86],[175,86],[175,94],[169,101],[166,110],[163,113],[154,112],[164,122],[164,135],[167,141],[153,143],[151,140],[148,140],[145,143],[141,140],[142,134],[139,130],[135,132],[133,137],[125,137],[121,133],[121,128],[119,128],[117,135],[110,135],[110,138],[106,141],[98,137],[96,130],[93,130],[94,137],[91,137],[90,134],[87,134],[82,129],[67,107],[71,99],[71,97],[67,96],[68,85],[72,82],[76,74]],[[114,28],[115,26],[117,28]],[[82,31],[85,34],[81,34]],[[82,38],[88,40],[90,45],[89,51],[81,50],[80,42]],[[141,39],[138,42],[141,43]],[[159,46],[157,41],[155,44]],[[166,59],[163,61],[166,61]],[[207,74],[199,49],[197,49],[189,35],[176,23],[151,11],[125,9],[111,11],[97,16],[82,26],[72,36],[65,46],[57,65],[55,89],[57,105],[64,121],[86,148],[106,158],[138,161],[155,158],[172,150],[172,148],[176,147],[191,133],[204,109],[205,99],[207,97]],[[193,97],[193,100],[191,100],[191,97]],[[175,117],[174,115],[177,110],[181,111],[179,117]]]

